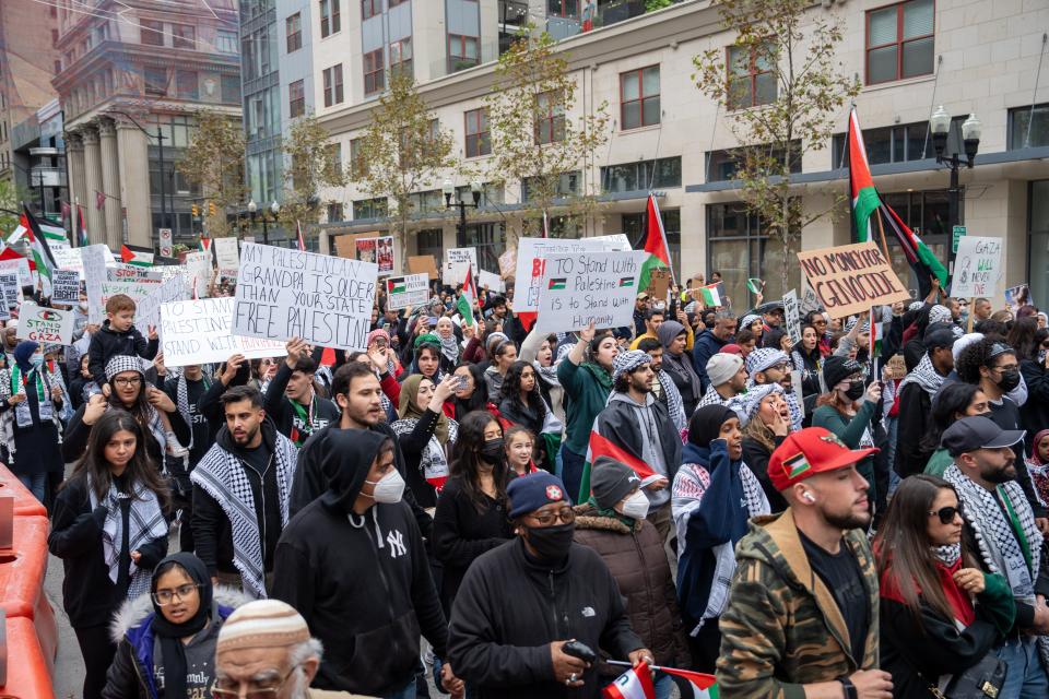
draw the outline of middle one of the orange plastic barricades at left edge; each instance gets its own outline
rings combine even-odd
[[[44,594],[49,526],[44,517],[15,517],[13,546],[0,549],[0,608],[36,627],[48,665],[58,645],[55,612]]]

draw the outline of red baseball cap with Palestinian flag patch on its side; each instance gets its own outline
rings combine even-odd
[[[768,479],[782,491],[809,476],[850,466],[877,451],[876,447],[849,449],[827,429],[806,427],[792,433],[773,452],[768,460]]]

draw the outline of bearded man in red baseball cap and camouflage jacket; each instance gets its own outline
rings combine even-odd
[[[721,615],[718,685],[732,697],[891,699],[877,670],[877,572],[864,530],[867,481],[822,427],[791,434],[768,462],[790,507],[751,520]]]

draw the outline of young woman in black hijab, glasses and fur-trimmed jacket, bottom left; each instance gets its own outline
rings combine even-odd
[[[153,569],[150,594],[128,600],[109,627],[117,654],[103,699],[203,697],[214,682],[219,629],[248,601],[214,589],[197,556],[178,553]]]

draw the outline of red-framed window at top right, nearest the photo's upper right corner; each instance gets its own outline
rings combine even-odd
[[[909,0],[867,13],[867,84],[933,70],[933,0]]]

